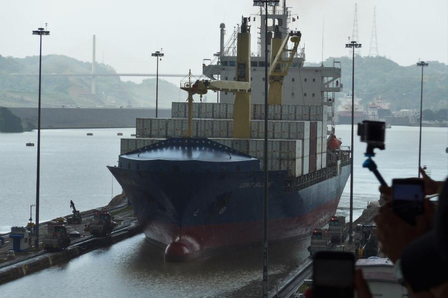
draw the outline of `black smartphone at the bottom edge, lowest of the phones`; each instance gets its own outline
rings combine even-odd
[[[354,297],[354,255],[319,251],[313,259],[313,298]]]

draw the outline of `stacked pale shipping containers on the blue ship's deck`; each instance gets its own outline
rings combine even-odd
[[[210,138],[260,159],[264,157],[264,105],[251,105],[250,138],[233,139],[233,104],[194,103],[193,136]],[[137,139],[122,139],[121,154],[170,137],[186,137],[188,106],[172,103],[172,118],[136,120]],[[199,118],[199,119],[198,119]],[[327,165],[327,106],[269,105],[268,169],[297,177]]]

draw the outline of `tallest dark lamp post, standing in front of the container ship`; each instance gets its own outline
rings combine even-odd
[[[278,6],[280,0],[253,0],[253,6],[260,6],[265,9],[264,19],[264,183],[263,183],[263,298],[267,297],[268,292],[268,168],[267,168],[267,150],[268,150],[268,6]]]

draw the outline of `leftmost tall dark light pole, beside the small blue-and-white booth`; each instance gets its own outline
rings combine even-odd
[[[40,185],[40,79],[42,74],[42,35],[50,35],[50,31],[38,28],[33,35],[40,35],[39,47],[39,104],[37,109],[37,174],[36,174],[36,224],[34,225],[34,247],[39,248],[39,185]]]

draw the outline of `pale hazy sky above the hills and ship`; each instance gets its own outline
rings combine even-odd
[[[321,61],[323,20],[324,59],[347,55],[355,2],[362,56],[369,52],[376,5],[381,56],[404,66],[419,58],[448,63],[447,0],[287,0],[299,16],[291,29],[302,31],[307,61]],[[228,37],[241,15],[257,11],[252,0],[1,0],[0,55],[38,55],[38,36],[31,31],[47,22],[51,35],[44,37],[44,55],[91,61],[96,34],[97,62],[117,72],[154,73],[151,53],[163,48],[160,73],[187,74],[191,68],[200,74],[202,59],[219,51],[220,23]],[[252,27],[252,38],[255,32]]]

